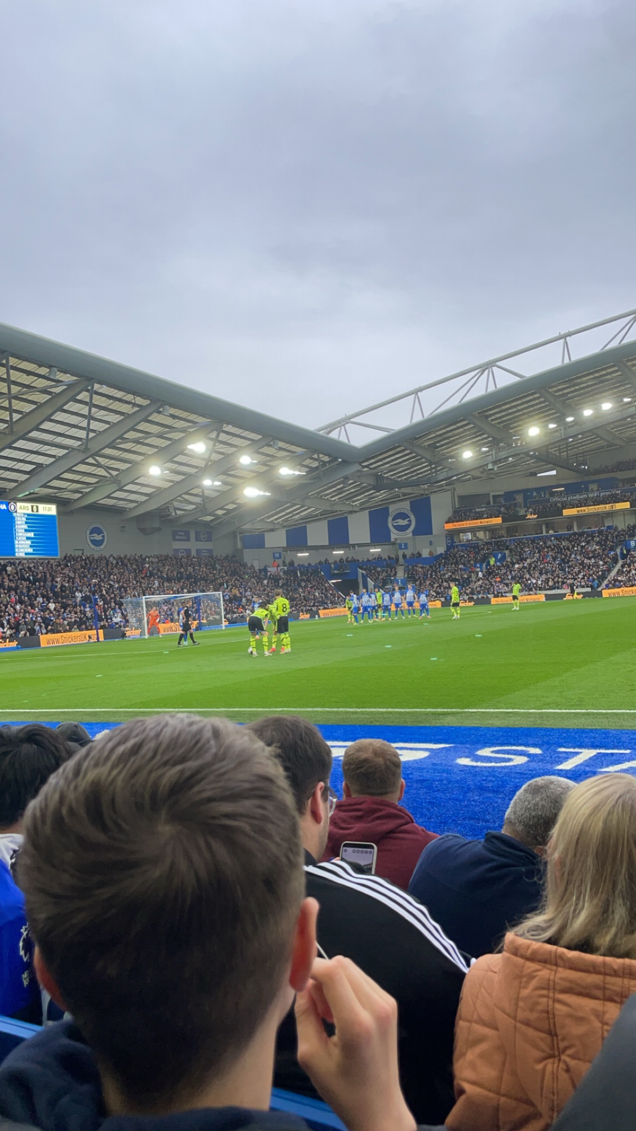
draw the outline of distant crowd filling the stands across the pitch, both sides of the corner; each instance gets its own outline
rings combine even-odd
[[[429,598],[446,599],[454,582],[462,597],[499,596],[517,581],[525,593],[566,589],[570,585],[598,588],[618,562],[618,546],[636,528],[604,528],[567,535],[496,538],[454,545],[429,561],[419,552],[404,567],[406,578],[426,588]],[[631,530],[631,533],[630,533]],[[505,554],[502,560],[497,556]],[[403,555],[405,556],[405,555]],[[354,559],[358,561],[358,559]],[[633,585],[636,555],[621,563],[614,587]],[[332,563],[333,564],[333,563]],[[360,561],[371,581],[393,585],[402,563],[397,555],[379,563]],[[292,616],[338,607],[344,596],[324,576],[319,564],[260,569],[235,558],[114,555],[0,562],[0,639],[79,632],[95,627],[94,598],[101,628],[126,629],[127,597],[160,593],[223,594],[227,623],[246,620],[256,599],[270,603],[283,588]]]

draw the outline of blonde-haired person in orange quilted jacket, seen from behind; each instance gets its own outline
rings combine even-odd
[[[567,796],[544,901],[464,982],[449,1131],[544,1131],[636,992],[636,780]]]

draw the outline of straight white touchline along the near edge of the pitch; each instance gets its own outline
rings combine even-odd
[[[122,715],[152,711],[182,714],[198,710],[277,711],[282,714],[302,711],[330,711],[344,715],[636,715],[634,707],[2,707],[0,715]]]

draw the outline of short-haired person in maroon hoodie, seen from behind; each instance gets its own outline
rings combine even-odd
[[[405,783],[395,746],[381,739],[359,739],[342,760],[343,800],[329,821],[323,860],[340,856],[344,840],[367,840],[377,846],[376,875],[406,891],[422,849],[437,832],[415,824],[399,804]]]

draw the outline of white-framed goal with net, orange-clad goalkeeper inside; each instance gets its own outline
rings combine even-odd
[[[151,637],[180,632],[186,606],[190,608],[194,632],[225,628],[222,593],[161,593],[124,598],[127,636]]]

